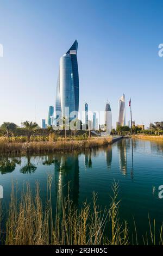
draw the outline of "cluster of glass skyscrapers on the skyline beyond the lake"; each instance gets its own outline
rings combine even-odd
[[[68,118],[70,121],[78,118],[79,111],[79,74],[77,61],[78,42],[74,41],[70,49],[60,58],[59,75],[57,81],[57,90],[55,98],[55,119],[54,107],[49,106],[47,124],[42,119],[42,128],[58,124],[59,118]],[[71,113],[71,115],[70,115]],[[124,94],[119,100],[119,117],[117,125],[126,125],[125,117],[125,96]],[[85,103],[85,129],[99,130],[96,112],[93,113],[93,120],[89,120],[88,104]],[[105,132],[111,133],[111,108],[107,102],[105,106]]]

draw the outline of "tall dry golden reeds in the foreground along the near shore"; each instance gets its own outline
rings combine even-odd
[[[162,225],[157,234],[155,220],[148,215],[149,230],[142,236],[136,228],[130,230],[126,220],[119,217],[118,184],[112,184],[110,205],[102,209],[97,205],[97,194],[92,202],[80,208],[62,190],[58,193],[56,209],[52,202],[52,174],[48,174],[46,203],[40,197],[39,183],[35,193],[30,185],[24,186],[18,199],[16,185],[12,184],[9,210],[5,225],[0,227],[1,245],[162,245]],[[3,207],[0,204],[0,217]],[[34,217],[35,216],[35,217]],[[1,218],[1,223],[2,218]],[[139,236],[138,236],[139,234]],[[141,239],[140,239],[141,237]],[[141,241],[140,241],[141,240]]]

